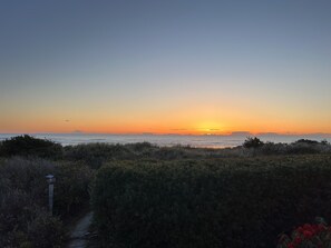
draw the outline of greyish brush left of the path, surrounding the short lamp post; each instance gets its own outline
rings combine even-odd
[[[55,217],[48,212],[53,173]],[[93,171],[84,165],[13,157],[0,161],[0,247],[62,247],[62,217],[89,199]]]

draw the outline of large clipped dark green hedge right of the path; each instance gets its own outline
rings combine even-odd
[[[106,247],[274,247],[331,219],[330,178],[330,155],[117,162],[98,171],[93,206]]]

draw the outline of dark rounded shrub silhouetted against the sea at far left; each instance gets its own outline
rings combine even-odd
[[[3,140],[0,146],[0,156],[30,156],[41,158],[59,158],[62,146],[50,140],[37,139],[28,135],[17,136]]]

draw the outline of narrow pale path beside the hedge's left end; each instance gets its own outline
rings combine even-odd
[[[85,248],[86,247],[86,235],[93,219],[93,212],[86,214],[81,219],[78,220],[74,230],[71,231],[71,241],[67,246],[68,248]]]

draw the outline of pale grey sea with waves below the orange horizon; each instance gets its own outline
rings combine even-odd
[[[14,136],[22,133],[0,133],[0,140],[9,139]],[[52,140],[61,143],[62,146],[75,146],[79,143],[93,143],[93,142],[105,142],[105,143],[135,143],[135,142],[150,142],[160,147],[168,146],[191,146],[198,148],[226,148],[241,146],[245,139],[252,135],[205,135],[205,136],[183,136],[183,135],[101,135],[101,133],[29,133],[32,137]],[[331,142],[331,135],[276,135],[276,133],[264,133],[257,135],[262,141],[271,142],[293,142],[299,139],[311,139],[311,140],[327,140]]]

